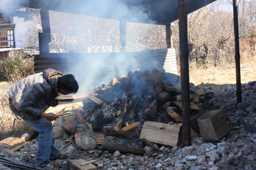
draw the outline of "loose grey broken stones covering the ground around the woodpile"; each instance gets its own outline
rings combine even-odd
[[[174,170],[236,170],[256,169],[256,81],[242,84],[242,102],[236,103],[236,86],[229,84],[222,89],[205,87],[207,92],[214,91],[210,102],[221,108],[226,115],[231,131],[219,141],[203,141],[194,138],[191,146],[166,147],[148,142],[145,154],[109,153],[101,146],[92,151],[82,150],[72,142],[72,137],[57,139],[60,151],[73,154],[65,160],[51,162],[58,169],[70,169],[69,160],[80,159],[90,162],[91,169],[174,169]],[[218,92],[216,92],[218,91]],[[37,141],[34,139],[26,147],[8,153],[0,151],[0,158],[23,165],[35,163]],[[1,165],[0,169],[15,169]]]

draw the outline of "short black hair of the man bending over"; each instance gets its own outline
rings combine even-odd
[[[74,75],[66,74],[59,78],[58,88],[62,88],[67,91],[72,91],[75,94],[78,91],[79,86]]]

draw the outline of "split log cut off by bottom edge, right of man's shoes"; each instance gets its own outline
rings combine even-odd
[[[89,163],[89,164],[85,164],[85,165],[81,165],[83,163],[85,163],[86,161],[82,160],[82,159],[69,159],[67,161],[67,169],[72,169],[72,170],[97,170],[97,166]]]

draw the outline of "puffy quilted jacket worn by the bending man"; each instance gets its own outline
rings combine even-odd
[[[57,82],[62,75],[52,68],[30,75],[9,90],[9,100],[27,118],[40,118],[47,108],[59,104]]]

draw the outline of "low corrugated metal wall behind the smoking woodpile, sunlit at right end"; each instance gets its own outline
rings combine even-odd
[[[84,73],[89,73],[95,65],[95,69],[105,71],[129,65],[129,69],[151,70],[153,68],[162,69],[166,72],[177,74],[176,53],[174,48],[161,50],[148,50],[139,52],[125,53],[49,53],[47,56],[38,55],[34,59],[35,73],[42,72],[46,68],[53,68],[65,74],[66,70],[77,69],[80,67]],[[97,63],[105,66],[97,67]],[[127,70],[128,73],[129,70]]]

